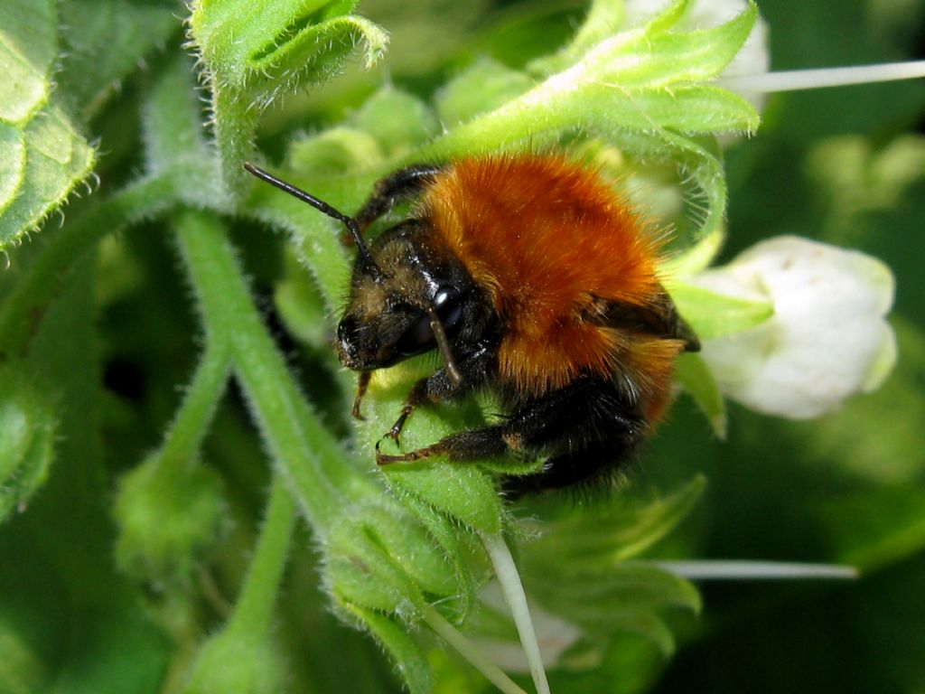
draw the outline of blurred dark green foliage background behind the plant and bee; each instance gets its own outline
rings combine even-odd
[[[11,0],[0,7],[0,18],[26,6]],[[70,122],[87,124],[83,134],[89,140],[100,143],[101,189],[71,197],[69,220],[92,210],[95,196],[139,178],[142,141],[153,131],[142,122],[140,101],[170,68],[166,53],[175,48],[164,47],[176,46],[183,28],[175,18],[181,9],[169,2],[73,0],[57,7],[67,55],[45,51],[35,61],[56,70],[58,89],[43,106],[47,119],[23,128],[56,127],[68,122],[59,118],[68,113]],[[293,130],[355,118],[357,105],[384,80],[427,99],[476,56],[521,68],[567,41],[584,9],[555,0],[364,3],[364,15],[391,32],[384,67],[364,72],[349,65],[337,81],[274,105],[261,120],[259,143],[281,157]],[[776,69],[922,57],[921,0],[765,0],[760,9],[771,27]],[[42,37],[31,39],[38,55]],[[507,86],[499,84],[499,91]],[[594,667],[553,675],[555,691],[925,690],[923,114],[921,83],[773,96],[759,134],[726,156],[730,238],[724,257],[768,236],[796,233],[860,248],[894,268],[900,350],[894,375],[882,390],[817,422],[782,422],[732,406],[726,441],[715,440],[682,398],[625,492],[628,500],[648,500],[652,490],[677,489],[699,472],[709,478],[695,512],[648,551],[652,558],[848,563],[860,567],[863,577],[837,585],[705,586],[701,615],[670,615],[679,640],[671,661],[663,662],[645,639],[627,637]],[[436,123],[434,129],[436,134]],[[72,173],[91,166],[93,156],[80,138],[68,127],[58,130],[60,138],[75,138],[62,168]],[[15,147],[6,131],[0,135],[6,163]],[[401,143],[401,132],[393,137]],[[191,148],[189,166],[196,164]],[[220,194],[184,191],[191,203],[214,193]],[[42,214],[28,204],[6,210],[3,218],[19,224]],[[139,574],[151,567],[132,564],[124,553],[123,570],[115,568],[114,556],[124,548],[117,546],[110,517],[130,527],[130,509],[112,510],[113,480],[131,470],[123,484],[143,477],[137,465],[161,444],[180,402],[178,385],[189,382],[201,341],[167,225],[134,221],[129,231],[105,238],[94,257],[81,259],[47,314],[38,316],[43,328],[30,345],[36,371],[13,375],[0,364],[0,383],[26,392],[29,411],[42,423],[17,440],[22,455],[34,462],[48,454],[51,440],[56,448],[50,470],[31,465],[38,478],[18,480],[39,487],[48,477],[27,504],[28,513],[10,511],[0,527],[0,692],[179,690],[202,639],[230,612],[265,517],[271,479],[247,422],[251,396],[232,389],[203,443],[202,458],[217,474],[197,472],[189,479],[191,500],[215,503],[179,497],[175,508],[155,510],[165,524],[186,517],[199,531],[195,547],[208,548],[208,562],[177,565],[172,560],[179,555],[170,546],[155,547],[147,557],[161,558],[162,575],[182,576],[179,586],[143,585],[133,567]],[[31,259],[56,233],[53,217],[9,252],[0,299],[27,277]],[[329,354],[311,346],[325,339],[317,328],[324,316],[320,305],[299,301],[301,268],[283,240],[265,229],[237,222],[231,238],[253,291],[265,302],[265,317],[286,316],[272,328],[300,380],[318,384],[311,389],[318,410],[332,431],[346,437],[350,393],[339,389]],[[47,413],[60,408],[68,415],[51,428]],[[109,492],[100,497],[100,489]],[[205,491],[197,496],[196,490]],[[285,520],[284,505],[271,504],[270,514],[276,508]],[[530,513],[556,510],[537,502]],[[604,512],[588,513],[593,518]],[[217,545],[215,538],[221,538]],[[273,631],[277,648],[263,652],[258,644],[244,656],[265,664],[265,674],[252,674],[258,683],[253,691],[274,681],[280,656],[288,670],[276,681],[281,690],[398,690],[372,640],[329,612],[327,596],[317,588],[314,555],[304,551],[311,542],[296,529],[292,544],[300,551],[292,552],[284,577],[285,609]],[[284,553],[285,547],[276,550]],[[435,650],[430,659],[438,691],[489,690],[453,656]]]

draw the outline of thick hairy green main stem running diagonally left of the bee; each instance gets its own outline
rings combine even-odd
[[[346,465],[346,452],[312,413],[267,334],[221,224],[186,210],[177,232],[207,334],[228,336],[235,373],[274,465],[324,537],[347,502],[342,490],[366,487],[351,479],[358,476]]]

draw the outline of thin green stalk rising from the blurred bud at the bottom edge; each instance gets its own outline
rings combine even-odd
[[[289,557],[295,511],[286,481],[277,473],[270,487],[264,527],[260,530],[238,601],[228,618],[228,631],[245,634],[248,638],[269,636],[279,582]]]

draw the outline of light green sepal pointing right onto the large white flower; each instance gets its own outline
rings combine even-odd
[[[684,282],[668,282],[678,313],[700,340],[715,340],[761,325],[774,315],[770,302],[737,299]]]

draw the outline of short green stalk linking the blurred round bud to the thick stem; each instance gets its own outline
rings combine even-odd
[[[161,465],[179,468],[195,459],[216,405],[225,392],[231,369],[228,340],[210,335],[207,345],[179,413],[166,433]]]

